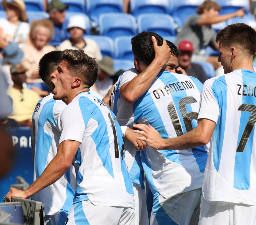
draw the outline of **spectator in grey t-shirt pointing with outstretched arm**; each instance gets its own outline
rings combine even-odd
[[[221,7],[217,2],[206,0],[197,8],[196,15],[192,15],[184,23],[181,32],[178,33],[176,45],[178,46],[182,40],[189,40],[193,43],[194,54],[192,61],[208,61],[217,69],[221,64],[217,61],[218,56],[205,56],[202,48],[208,45],[218,50],[215,42],[215,30],[211,27],[213,23],[225,21],[233,17],[243,17],[245,8],[236,12],[219,15]]]

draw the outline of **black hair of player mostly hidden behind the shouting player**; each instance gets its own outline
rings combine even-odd
[[[62,61],[61,59],[61,51],[52,51],[46,53],[38,63],[38,72],[39,76],[45,82],[45,78],[50,76],[53,73],[59,63]]]

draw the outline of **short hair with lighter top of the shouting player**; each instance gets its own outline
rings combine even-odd
[[[93,86],[99,74],[99,66],[95,58],[86,55],[82,49],[65,49],[61,58],[68,63],[67,68],[74,76],[80,77],[85,85]]]

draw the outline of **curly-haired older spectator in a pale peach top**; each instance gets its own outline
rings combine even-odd
[[[37,20],[31,24],[29,33],[31,44],[23,47],[24,56],[21,61],[22,65],[28,68],[27,78],[40,78],[37,70],[39,60],[44,54],[55,50],[53,46],[49,45],[53,34],[53,24],[48,19]],[[41,78],[40,81],[42,81]],[[33,80],[28,83],[33,83]]]

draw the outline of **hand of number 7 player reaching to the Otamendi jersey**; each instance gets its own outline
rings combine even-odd
[[[161,138],[160,134],[158,133],[158,131],[155,128],[153,128],[150,125],[147,126],[147,125],[141,124],[141,123],[134,124],[133,127],[141,130],[141,131],[133,130],[134,133],[143,135],[143,137],[137,136],[137,139],[139,139],[141,141],[145,141],[148,146],[150,146],[151,148],[154,148],[156,150],[163,149],[165,140],[163,138]]]

